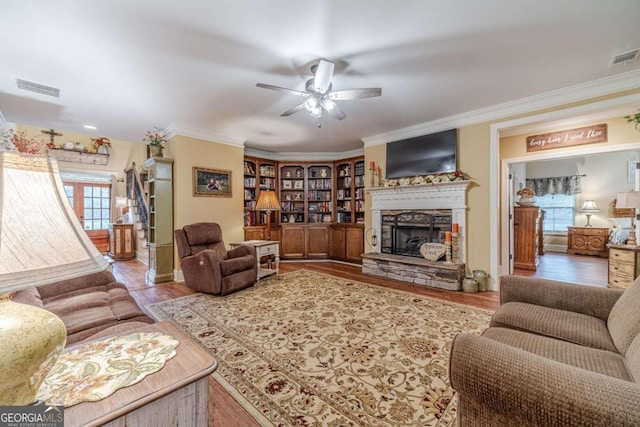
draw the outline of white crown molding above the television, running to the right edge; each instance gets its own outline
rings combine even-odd
[[[386,144],[401,139],[428,135],[447,129],[470,126],[505,117],[531,113],[545,108],[557,107],[572,102],[610,95],[630,89],[638,89],[640,70],[629,71],[598,80],[544,92],[541,94],[496,104],[491,107],[469,111],[426,123],[362,138],[365,147]]]

